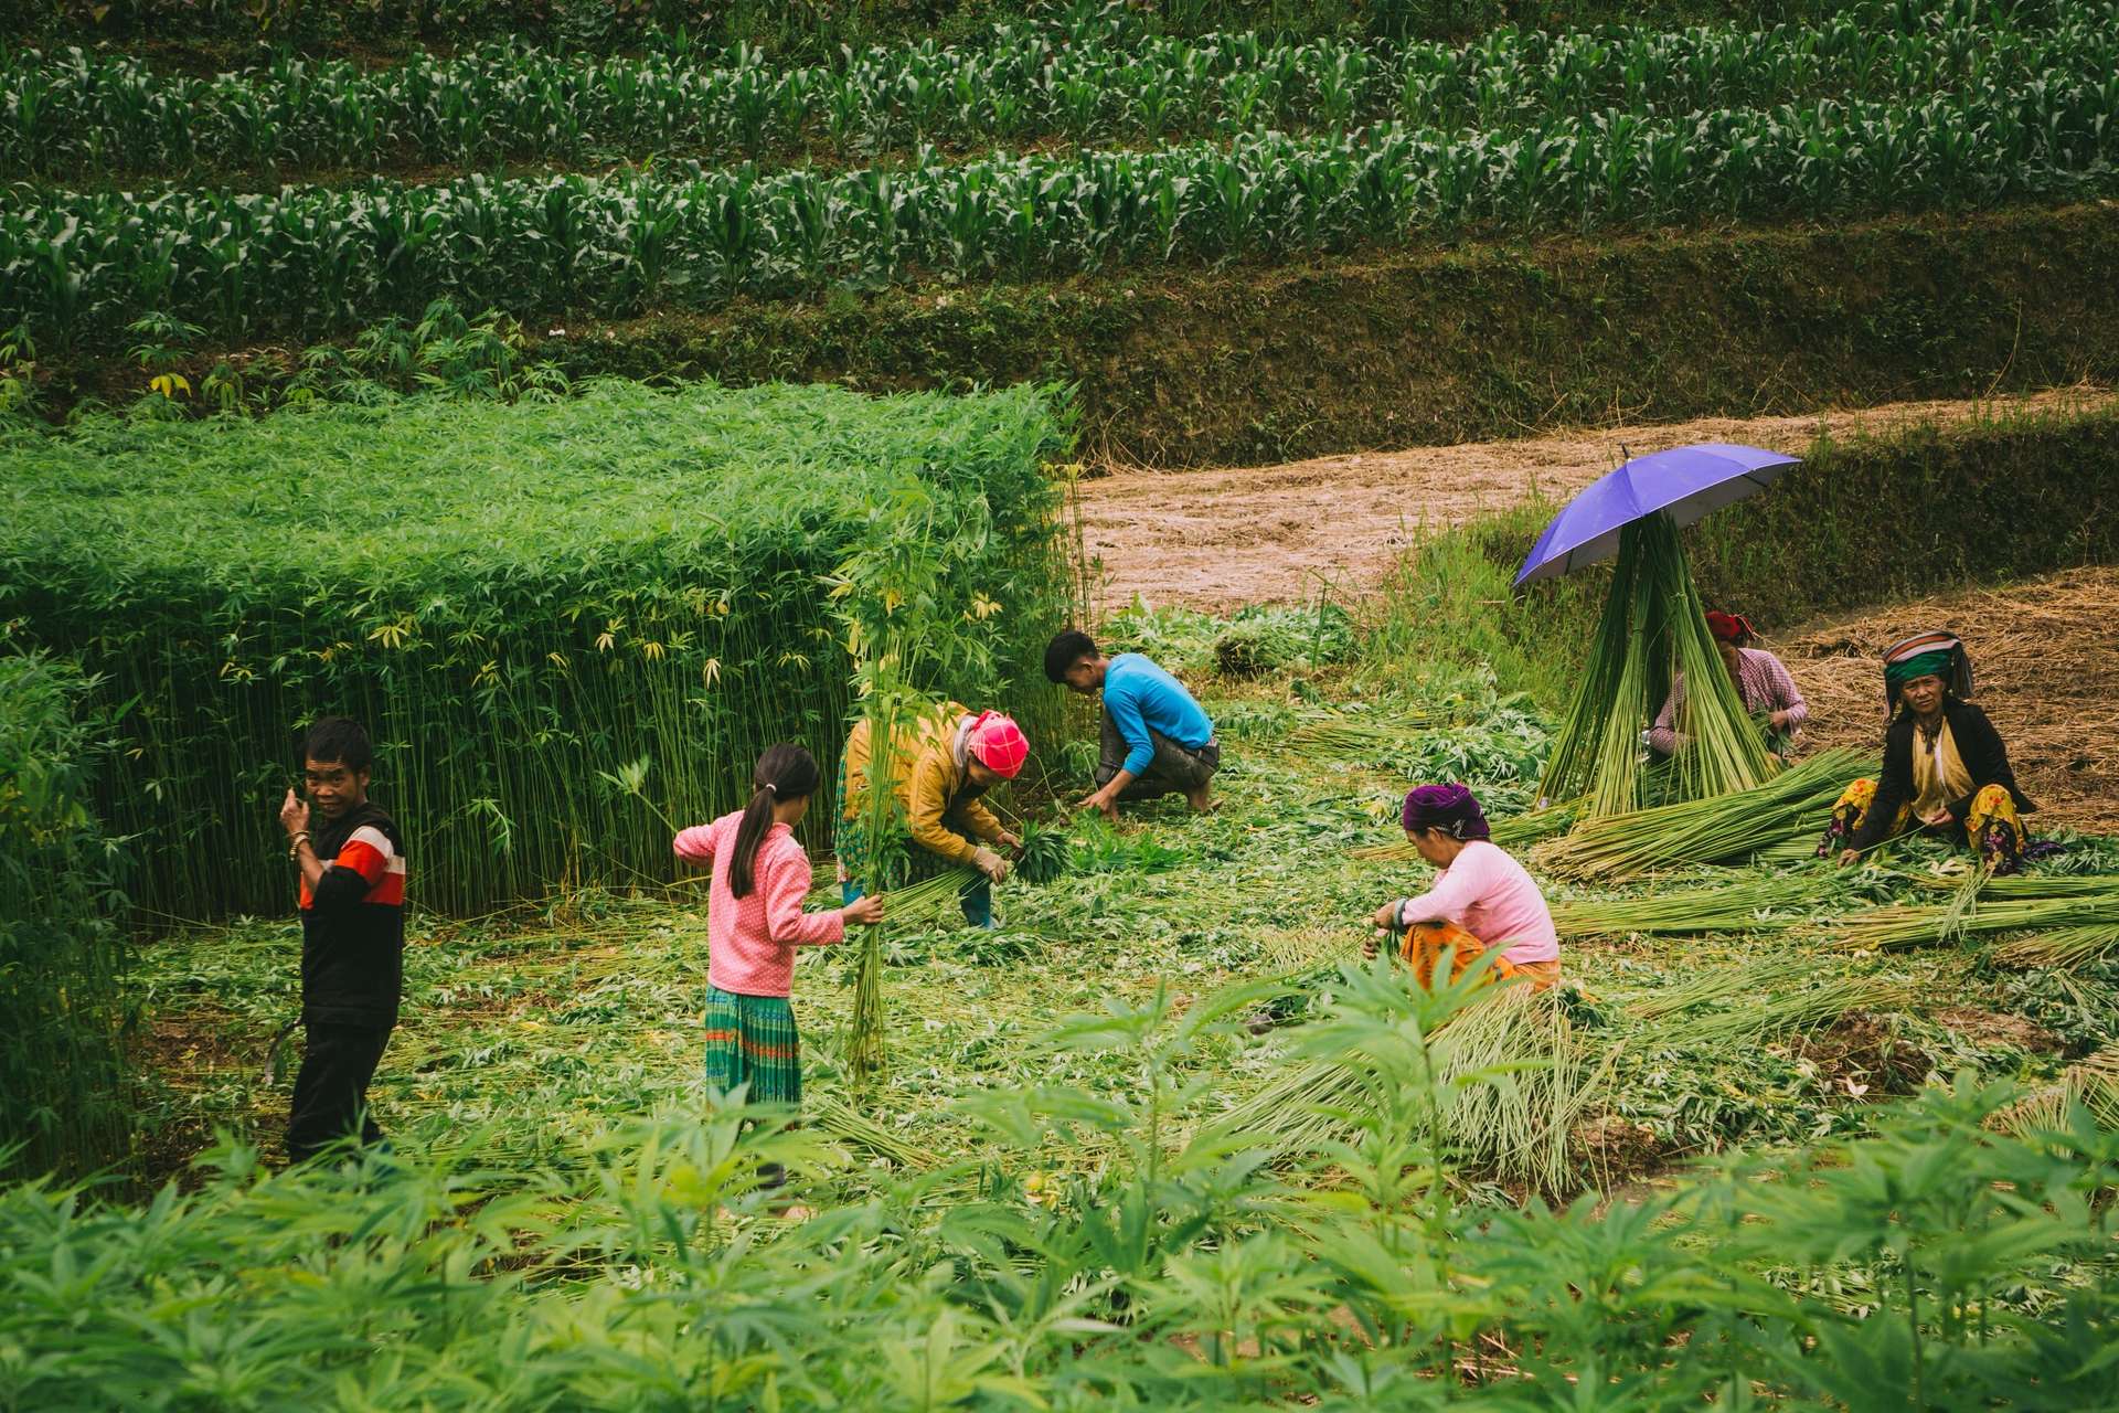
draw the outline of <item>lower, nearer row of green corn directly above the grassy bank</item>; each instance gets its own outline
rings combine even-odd
[[[909,169],[21,193],[0,210],[0,326],[112,345],[159,311],[227,337],[322,333],[434,297],[515,311],[712,307],[934,271],[2087,197],[2119,186],[2115,112],[2119,74],[1922,104],[1600,114],[1504,133],[1379,125]]]

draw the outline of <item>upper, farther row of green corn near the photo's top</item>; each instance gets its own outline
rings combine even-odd
[[[1445,131],[1822,97],[1913,102],[2119,68],[2119,2],[2015,23],[1983,0],[1863,6],[1814,28],[1500,30],[1375,47],[1174,40],[1112,17],[1000,25],[983,47],[871,49],[776,68],[756,51],[578,59],[519,47],[362,70],[282,55],[216,78],[121,53],[0,55],[0,174],[377,167],[610,153],[833,155],[1403,121]]]

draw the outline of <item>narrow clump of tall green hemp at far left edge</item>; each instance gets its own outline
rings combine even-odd
[[[0,655],[0,1174],[127,1150],[125,898],[91,799],[110,731],[93,688],[68,661]]]

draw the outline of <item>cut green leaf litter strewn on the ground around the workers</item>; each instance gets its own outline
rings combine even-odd
[[[1447,710],[1464,712],[1466,693]],[[1377,902],[1420,888],[1418,864],[1377,864],[1352,849],[1396,837],[1396,792],[1413,780],[1468,777],[1500,807],[1519,803],[1536,777],[1543,722],[1521,705],[1468,693],[1477,720],[1413,731],[1363,752],[1358,767],[1331,752],[1290,750],[1280,739],[1312,708],[1263,688],[1210,699],[1233,767],[1218,816],[1151,809],[1127,824],[1132,854],[1098,830],[1081,854],[1091,871],[1047,886],[1011,881],[1000,892],[998,932],[947,930],[898,936],[886,970],[892,1066],[873,1095],[856,1099],[839,1074],[835,1032],[852,987],[850,949],[807,955],[797,970],[797,1010],[807,1034],[812,1093],[852,1104],[909,1150],[977,1157],[977,1125],[951,1108],[966,1093],[1011,1093],[1064,1078],[1098,1093],[1140,1099],[1123,1063],[1081,1061],[1051,1070],[1034,1017],[1096,1010],[1106,1000],[1148,1002],[1170,987],[1201,998],[1231,983],[1290,974],[1314,985],[1331,964],[1356,955],[1360,919]],[[1348,703],[1360,710],[1363,703]],[[1403,705],[1399,699],[1369,703]],[[1496,710],[1498,708],[1498,710]],[[388,786],[381,797],[388,799]],[[417,837],[417,820],[407,820]],[[1102,849],[1102,862],[1093,862]],[[1911,845],[1894,866],[1922,871],[1943,854]],[[1153,864],[1153,866],[1148,866]],[[2072,871],[2119,871],[2119,847],[2085,843]],[[1748,877],[1757,871],[1693,871],[1661,877],[1653,892]],[[1803,866],[1805,917],[1831,919],[1886,898],[1930,898],[1905,877],[1841,875]],[[820,871],[822,875],[822,871]],[[706,985],[706,928],[687,886],[670,896],[576,894],[549,917],[473,924],[428,919],[407,958],[407,1021],[379,1078],[379,1104],[400,1142],[417,1150],[464,1125],[496,1125],[487,1144],[506,1161],[553,1159],[585,1125],[617,1121],[655,1102],[695,1102],[697,1013]],[[1642,890],[1630,890],[1634,894]],[[1557,902],[1623,896],[1553,886]],[[1786,902],[1780,905],[1782,911]],[[265,1138],[284,1110],[280,1087],[261,1085],[267,1038],[295,1010],[297,934],[290,922],[256,919],[227,932],[148,947],[138,985],[153,1017],[163,1097],[159,1121],[180,1150],[216,1125]],[[1725,1025],[1693,1030],[1708,1013],[1644,1019],[1659,998],[1685,996],[1712,977],[1744,977],[1791,960],[1814,966],[1752,974],[1750,996],[1708,1004]],[[1322,968],[1322,970],[1320,970]],[[2066,972],[1996,970],[1979,949],[1854,955],[1829,928],[1812,941],[1786,932],[1744,936],[1568,938],[1577,1036],[1613,1057],[1600,1131],[1577,1144],[1568,1188],[1598,1178],[1659,1169],[1680,1155],[1727,1144],[1805,1142],[1869,1127],[1873,1102],[1907,1093],[1937,1070],[1977,1066],[1992,1076],[2051,1080],[2064,1063],[2119,1040],[2119,966],[2091,962]],[[1746,1008],[1761,998],[1808,998],[1788,1010],[1801,1023]],[[1282,1015],[1301,1004],[1280,1002]],[[1952,1027],[1943,1010],[2013,1015],[2034,1025]],[[1808,1038],[1805,1038],[1808,1027]],[[2007,1036],[2007,1038],[1998,1038]],[[184,1059],[191,1055],[191,1059]],[[1187,1078],[1237,1102],[1284,1068],[1271,1036],[1218,1036],[1185,1061]],[[1053,1169],[1087,1169],[1098,1146],[1057,1148]],[[1494,1178],[1496,1174],[1488,1174]],[[1521,1184],[1517,1184],[1521,1186]],[[1568,1195],[1557,1193],[1557,1195]]]

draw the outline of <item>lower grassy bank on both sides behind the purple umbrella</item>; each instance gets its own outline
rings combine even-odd
[[[1375,663],[1490,663],[1557,708],[1602,608],[1596,570],[1511,580],[1553,506],[1424,540],[1386,583]],[[2032,413],[1820,441],[1771,491],[1687,534],[1708,604],[1759,627],[1820,612],[2119,561],[2119,415]]]

